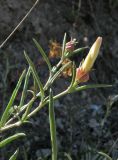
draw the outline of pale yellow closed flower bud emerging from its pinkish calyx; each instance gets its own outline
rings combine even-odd
[[[93,67],[94,62],[98,56],[101,43],[102,43],[102,37],[98,37],[97,40],[92,45],[92,47],[90,48],[90,51],[81,66],[84,72],[86,73],[89,72]]]

